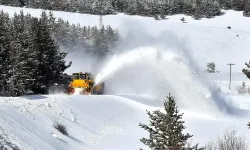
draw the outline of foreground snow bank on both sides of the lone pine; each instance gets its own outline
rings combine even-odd
[[[249,109],[249,103],[242,105]],[[1,132],[7,132],[4,138],[21,149],[147,149],[139,141],[147,133],[138,124],[148,123],[145,109],[158,108],[132,96],[1,98],[0,126]],[[194,143],[205,144],[228,127],[236,127],[242,135],[248,130],[244,118],[181,112]],[[55,122],[67,126],[68,137],[53,128]]]

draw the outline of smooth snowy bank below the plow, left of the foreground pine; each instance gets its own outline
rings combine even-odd
[[[8,130],[24,142],[28,149],[106,149],[139,148],[134,144],[122,141],[136,142],[137,136],[130,135],[137,124],[137,118],[142,118],[142,104],[116,96],[39,96],[23,97],[18,100],[1,101],[1,127]],[[112,108],[112,111],[110,111]],[[53,128],[54,122],[67,126],[69,137],[60,134]],[[129,133],[130,132],[130,133]],[[110,141],[114,134],[120,138]],[[14,142],[15,140],[13,140]],[[15,141],[18,143],[18,141]],[[25,145],[20,144],[20,148]],[[119,147],[117,147],[119,146]],[[130,148],[129,148],[130,149]]]

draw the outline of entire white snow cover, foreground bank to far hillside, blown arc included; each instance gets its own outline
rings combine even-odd
[[[41,14],[35,9],[1,9],[10,15],[21,9],[33,16]],[[249,141],[250,95],[239,95],[236,87],[242,81],[250,85],[241,73],[250,60],[250,20],[242,12],[224,12],[202,20],[184,15],[161,21],[124,14],[105,16],[104,24],[118,28],[129,43],[118,47],[122,53],[111,57],[100,70],[98,80],[107,83],[108,95],[0,98],[2,137],[24,149],[146,149],[139,139],[147,133],[138,124],[148,122],[146,110],[162,109],[171,92],[185,113],[193,143],[204,145],[229,127]],[[93,15],[54,15],[81,25],[98,25],[99,21]],[[182,23],[182,17],[188,23]],[[83,58],[74,56],[78,62]],[[69,73],[82,69],[83,63],[78,66],[74,60]],[[208,62],[214,62],[220,72],[205,74]],[[228,63],[236,64],[232,66],[231,90]],[[53,128],[55,121],[67,126],[70,137]]]

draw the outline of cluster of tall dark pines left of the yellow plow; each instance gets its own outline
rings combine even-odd
[[[6,76],[1,95],[47,93],[49,83],[57,82],[69,66],[64,61],[66,53],[59,52],[50,34],[46,14],[37,19],[20,12],[14,15],[9,28],[6,35],[11,36],[11,41],[5,50],[4,58],[8,61],[3,63]],[[5,40],[3,43],[8,43]]]

